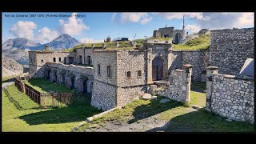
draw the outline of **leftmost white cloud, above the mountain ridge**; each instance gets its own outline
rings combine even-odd
[[[37,25],[34,22],[29,21],[18,21],[10,28],[10,33],[14,34],[18,38],[28,38],[33,39],[33,31],[37,28]]]

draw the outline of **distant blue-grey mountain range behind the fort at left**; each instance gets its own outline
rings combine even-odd
[[[2,56],[12,58],[22,65],[28,65],[29,50],[44,50],[46,45],[50,46],[50,50],[63,50],[79,44],[81,42],[70,37],[69,34],[62,34],[46,44],[32,42],[27,38],[11,38],[2,44]]]

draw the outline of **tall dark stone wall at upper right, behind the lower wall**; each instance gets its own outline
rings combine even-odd
[[[254,28],[211,30],[209,66],[220,74],[238,74],[246,58],[254,58]]]

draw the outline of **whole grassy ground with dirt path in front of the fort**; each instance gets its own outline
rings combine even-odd
[[[41,90],[46,90],[43,86],[50,89],[52,87],[49,86],[50,84],[55,85],[43,78],[36,83],[32,80],[30,84],[38,86]],[[54,90],[62,91],[66,88],[57,85]],[[228,122],[226,118],[206,112],[203,109],[206,102],[205,90],[205,82],[192,83],[191,102],[186,105],[172,100],[161,103],[160,101],[165,98],[160,96],[156,100],[135,100],[122,109],[96,118],[74,131],[247,132],[254,130],[249,123]],[[89,101],[57,109],[42,109],[26,94],[18,91],[14,85],[2,90],[2,104],[3,131],[70,131],[86,118],[101,112],[90,106]],[[194,106],[198,106],[199,109],[193,108]]]

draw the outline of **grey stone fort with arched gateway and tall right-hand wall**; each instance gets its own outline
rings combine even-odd
[[[182,37],[184,33],[181,31]],[[176,37],[178,31],[154,31],[156,37],[162,34]],[[135,45],[130,42],[130,46]],[[238,74],[246,59],[254,58],[254,28],[211,30],[208,50],[172,48],[170,42],[156,39],[145,40],[141,48],[132,50],[106,50],[103,43],[101,47],[92,44],[72,52],[29,51],[29,73],[34,78],[64,83],[80,94],[90,93],[92,106],[110,110],[141,97],[155,82],[169,82],[172,74],[182,78],[191,71],[192,82],[206,82],[208,66],[218,66],[220,74]],[[185,73],[177,69],[188,70]]]

